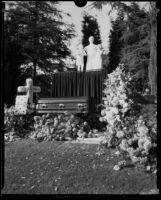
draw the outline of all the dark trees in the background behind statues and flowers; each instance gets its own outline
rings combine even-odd
[[[17,87],[24,85],[28,77],[33,77],[34,84],[45,88],[42,95],[48,96],[48,76],[56,69],[64,71],[64,59],[72,57],[68,42],[75,35],[74,26],[64,24],[64,13],[57,9],[58,4],[55,1],[15,1],[10,2],[9,9],[5,10],[4,102],[8,106],[15,103]],[[150,93],[156,96],[156,2],[148,2],[148,10],[141,9],[137,2],[127,5],[120,1],[94,2],[93,7],[101,9],[107,4],[118,15],[112,20],[109,54],[103,55],[104,67],[110,73],[119,63],[124,63],[134,74],[138,92],[143,93],[149,87]],[[91,35],[95,37],[96,44],[101,43],[99,24],[87,13],[82,20],[82,33],[84,46],[88,45]],[[36,76],[36,70],[43,71],[45,75]]]

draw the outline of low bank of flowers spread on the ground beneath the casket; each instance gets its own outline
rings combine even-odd
[[[91,130],[86,121],[68,112],[34,116],[34,129],[30,138],[38,141],[93,137],[98,132],[96,129]]]

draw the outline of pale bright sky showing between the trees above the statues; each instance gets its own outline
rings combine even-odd
[[[82,26],[82,14],[84,11],[89,13],[90,15],[97,18],[99,27],[100,27],[100,34],[102,39],[102,46],[104,50],[108,53],[109,51],[109,33],[111,29],[111,17],[113,19],[116,18],[116,12],[113,12],[112,15],[108,15],[108,11],[110,10],[110,6],[106,5],[103,6],[102,10],[91,9],[89,5],[92,1],[87,2],[85,7],[77,7],[74,1],[61,1],[58,5],[58,8],[62,11],[65,11],[71,15],[71,17],[64,18],[64,21],[67,23],[73,23],[75,25],[75,31],[77,36],[71,40],[70,49],[72,54],[75,55],[77,44],[81,41],[82,33],[81,33],[81,26]],[[130,2],[127,2],[127,4]],[[145,6],[147,2],[140,2],[140,6]]]

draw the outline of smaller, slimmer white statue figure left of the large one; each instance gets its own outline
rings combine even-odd
[[[78,71],[83,71],[83,68],[84,68],[84,55],[85,55],[85,52],[84,52],[84,49],[83,49],[83,45],[80,44],[78,46],[78,49],[77,49],[77,60],[76,60],[76,65],[78,67]]]

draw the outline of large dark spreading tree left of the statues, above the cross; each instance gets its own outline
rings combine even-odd
[[[5,103],[14,104],[17,87],[27,77],[35,77],[36,67],[47,73],[62,70],[63,59],[70,55],[66,45],[73,26],[62,22],[56,2],[16,1],[5,10]],[[23,64],[32,64],[21,68]],[[36,81],[36,79],[34,80]],[[34,83],[36,84],[36,82]]]

